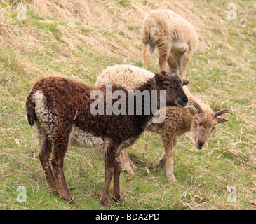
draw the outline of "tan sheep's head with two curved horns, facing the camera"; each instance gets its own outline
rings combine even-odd
[[[193,99],[189,99],[189,103],[194,106],[194,108],[189,107],[189,112],[194,116],[191,123],[191,134],[196,144],[196,147],[201,149],[206,145],[210,136],[213,134],[218,123],[225,123],[229,120],[226,118],[219,117],[223,113],[233,113],[229,109],[222,109],[217,113],[212,113],[207,111],[205,113],[201,106],[195,102]]]

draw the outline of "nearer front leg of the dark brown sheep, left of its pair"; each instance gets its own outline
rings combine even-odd
[[[111,207],[111,204],[109,204],[110,183],[112,180],[112,176],[114,174],[114,166],[115,166],[114,163],[115,163],[116,152],[118,148],[119,148],[119,145],[116,144],[114,141],[112,141],[112,143],[109,144],[109,146],[105,151],[105,182],[104,182],[104,188],[102,191],[100,202],[102,202],[102,205],[108,205],[109,207]]]

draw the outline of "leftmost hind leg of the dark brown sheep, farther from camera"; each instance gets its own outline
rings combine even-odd
[[[48,139],[48,136],[46,136],[46,134],[42,134],[39,137],[39,143],[40,151],[38,156],[43,167],[43,172],[46,175],[46,181],[48,182],[52,193],[58,193],[53,172],[50,167],[50,153],[52,152],[53,143],[51,139]]]

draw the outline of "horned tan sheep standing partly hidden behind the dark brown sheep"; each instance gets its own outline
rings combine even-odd
[[[97,77],[96,85],[116,83],[126,87],[128,90],[135,90],[137,85],[152,77],[154,77],[154,73],[136,66],[116,65],[102,71],[102,74]],[[168,179],[174,181],[173,147],[177,142],[177,137],[191,131],[196,147],[201,149],[207,144],[217,123],[228,121],[219,116],[223,113],[232,113],[229,109],[222,109],[214,113],[210,109],[210,106],[194,97],[187,87],[183,87],[183,90],[193,106],[183,109],[168,106],[166,107],[166,120],[163,123],[151,123],[147,129],[161,135],[165,153],[163,153],[159,160],[159,166],[162,167],[166,163],[166,176],[168,176]],[[126,150],[123,150],[120,160],[121,169],[134,174],[133,169],[135,169],[135,166],[130,161],[130,158],[128,158]]]

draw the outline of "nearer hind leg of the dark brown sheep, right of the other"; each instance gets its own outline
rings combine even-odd
[[[67,188],[67,183],[65,181],[63,163],[65,153],[67,152],[69,144],[69,134],[71,132],[67,130],[67,127],[63,131],[58,132],[58,137],[53,137],[53,155],[51,160],[51,165],[53,167],[53,174],[55,178],[55,183],[58,189],[60,198],[67,200],[70,204],[73,203],[73,198],[69,193]]]

